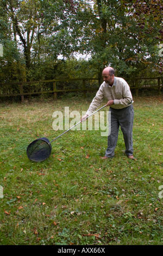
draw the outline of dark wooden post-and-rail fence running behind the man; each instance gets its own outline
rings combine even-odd
[[[74,78],[74,79],[57,79],[57,80],[43,80],[43,81],[32,81],[32,82],[12,82],[12,83],[4,83],[4,84],[0,84],[1,86],[12,86],[12,85],[16,85],[19,87],[20,93],[9,93],[9,94],[1,94],[0,93],[0,97],[6,97],[6,96],[21,96],[21,100],[22,102],[24,102],[24,95],[34,95],[34,94],[48,94],[51,93],[54,95],[54,100],[57,100],[57,93],[60,92],[83,92],[83,96],[86,97],[86,92],[89,91],[97,91],[98,87],[91,87],[91,88],[87,88],[86,87],[86,81],[93,81],[93,80],[97,80],[98,78]],[[142,84],[142,81],[147,81],[147,80],[157,80],[157,83],[154,85],[145,85]],[[71,81],[82,81],[83,86],[81,88],[76,88],[76,89],[58,89],[57,88],[57,82],[71,82]],[[140,82],[141,81],[141,82]],[[139,95],[139,90],[140,89],[151,89],[151,88],[155,88],[158,89],[158,94],[161,93],[161,88],[162,88],[162,83],[163,83],[163,77],[142,77],[142,78],[134,78],[134,80],[131,80],[132,82],[132,86],[130,86],[130,89],[135,89],[136,92],[136,96]],[[45,90],[45,91],[40,91],[40,92],[24,92],[24,85],[25,84],[36,84],[36,83],[53,83],[53,89],[52,90]],[[30,89],[30,88],[29,88]]]

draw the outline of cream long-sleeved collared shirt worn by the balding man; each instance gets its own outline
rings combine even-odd
[[[101,105],[104,98],[108,101],[114,100],[114,105],[111,107],[116,109],[128,107],[134,102],[128,83],[121,77],[114,77],[112,86],[105,82],[101,84],[86,114],[93,113]]]

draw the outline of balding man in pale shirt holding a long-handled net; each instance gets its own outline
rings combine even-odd
[[[81,121],[88,117],[95,109],[101,105],[104,97],[108,100],[106,106],[110,106],[111,111],[111,132],[108,136],[108,148],[102,159],[114,157],[114,151],[118,139],[118,130],[121,126],[124,143],[126,146],[125,154],[129,159],[133,156],[133,97],[130,92],[128,83],[120,77],[115,77],[115,70],[111,67],[105,68],[102,72],[104,82],[91,102],[86,114]]]

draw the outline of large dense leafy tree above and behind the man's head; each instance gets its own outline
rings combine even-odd
[[[146,1],[148,11],[153,1]],[[92,1],[80,1],[77,10],[69,14],[69,21],[64,14],[67,23],[61,22],[61,26],[66,24],[70,29],[73,51],[89,53],[99,76],[105,65],[113,65],[118,75],[135,76],[159,62],[162,7],[157,4],[155,13],[152,9],[152,17],[148,13],[138,15],[138,7],[133,2],[96,0],[92,5]],[[146,5],[141,6],[146,13]],[[158,10],[159,15],[155,17]],[[142,9],[140,11],[142,13]]]

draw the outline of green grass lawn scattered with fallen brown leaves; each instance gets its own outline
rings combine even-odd
[[[49,140],[54,111],[86,111],[91,99],[1,103],[1,245],[161,245],[162,99],[134,98],[134,156],[103,161],[101,131],[69,131],[44,162],[26,155],[30,142]]]

